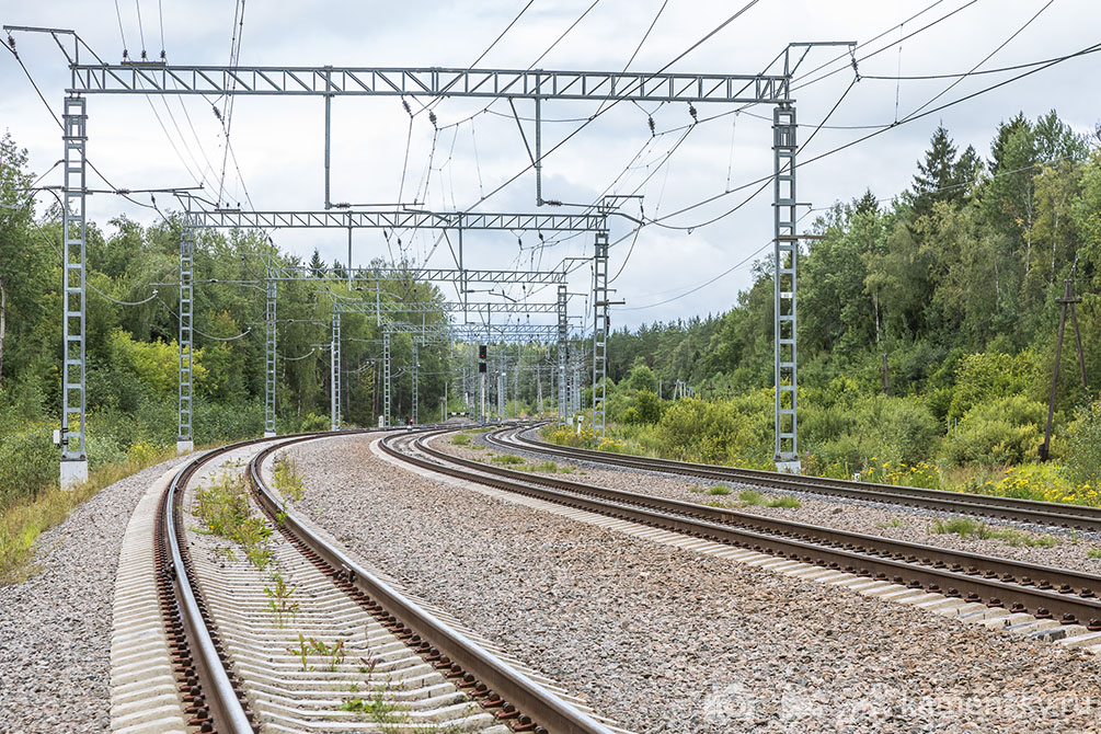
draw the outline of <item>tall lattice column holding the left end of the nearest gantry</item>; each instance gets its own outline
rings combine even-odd
[[[85,99],[68,97],[64,105],[63,142],[65,146],[64,211],[62,240],[62,320],[64,359],[62,362],[62,458],[61,486],[75,487],[88,480],[85,452],[85,153],[88,140]]]

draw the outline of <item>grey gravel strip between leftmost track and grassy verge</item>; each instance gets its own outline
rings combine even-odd
[[[0,588],[0,732],[109,730],[119,549],[142,494],[182,460],[100,490],[39,538],[40,572]]]

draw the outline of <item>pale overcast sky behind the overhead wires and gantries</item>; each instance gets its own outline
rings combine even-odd
[[[468,67],[525,4],[527,0],[252,0],[244,10],[240,63]],[[532,66],[592,4],[592,0],[534,0],[479,67]],[[619,72],[637,51],[630,69],[654,72],[741,6],[741,0],[598,0],[538,61],[538,67]],[[915,14],[918,17],[912,19]],[[6,24],[74,29],[107,61],[122,57],[124,36],[131,57],[138,57],[143,47],[157,57],[163,47],[168,62],[178,64],[228,63],[233,18],[235,3],[229,0],[7,0],[0,13]],[[907,19],[912,20],[904,23]],[[944,20],[900,43],[938,19]],[[652,23],[653,30],[640,47]],[[1003,43],[1004,47],[979,69],[1062,56],[1101,41],[1099,31],[1101,4],[1095,0],[761,0],[669,70],[756,74],[788,42],[855,41],[866,43],[857,52],[861,75],[964,73]],[[19,33],[15,40],[28,69],[59,114],[67,83],[64,57],[50,36]],[[864,58],[869,54],[874,55]],[[837,105],[828,120],[830,127],[818,131],[800,152],[800,160],[872,132],[853,127],[903,120],[953,84],[953,79],[871,78],[853,84],[848,56],[803,76],[837,56],[836,48],[814,50],[796,74],[800,143]],[[998,123],[1018,111],[1036,118],[1056,109],[1076,129],[1092,131],[1101,119],[1095,84],[1099,58],[1101,55],[1070,59],[800,167],[798,199],[820,208],[850,200],[868,188],[880,198],[898,194],[911,184],[915,162],[938,123],[948,129],[960,150],[971,144],[984,156]],[[836,74],[816,80],[835,69]],[[971,76],[924,109],[966,97],[1023,70],[1027,69]],[[799,88],[798,77],[813,84]],[[36,174],[45,172],[61,157],[59,130],[10,54],[0,61],[0,129],[29,149]],[[320,98],[237,98],[230,141],[240,175],[232,156],[222,174],[225,136],[211,111],[212,101],[221,108],[222,100],[196,97],[91,96],[88,157],[122,187],[203,184],[208,198],[217,199],[221,189],[224,200],[246,208],[246,189],[258,210],[323,208]],[[419,105],[411,103],[418,109]],[[579,120],[598,107],[546,102],[544,150],[575,132],[581,125]],[[416,201],[433,210],[536,210],[532,173],[482,200],[528,164],[508,101],[499,100],[482,112],[484,108],[484,101],[442,100],[433,108],[437,131],[425,113],[414,117],[411,125],[397,98],[337,99],[333,108],[334,200],[394,202],[401,197],[404,202]],[[612,249],[611,274],[622,269],[613,287],[618,288],[617,297],[626,300],[625,307],[614,311],[615,327],[727,310],[749,284],[752,262],[770,252],[763,248],[772,237],[771,187],[729,216],[722,215],[757,187],[728,190],[772,172],[772,110],[757,107],[733,114],[730,106],[698,108],[701,122],[688,131],[685,125],[691,118],[687,105],[617,105],[544,161],[544,198],[588,204],[606,190],[637,190],[644,196],[644,215],[664,224],[645,227],[636,239],[626,237]],[[531,102],[517,101],[516,110],[528,117]],[[712,116],[720,117],[704,121]],[[656,135],[651,133],[650,117]],[[530,127],[527,131],[531,134]],[[59,168],[44,183],[59,184]],[[92,179],[91,185],[101,182]],[[693,207],[711,197],[717,198]],[[138,198],[149,201],[148,196]],[[157,202],[164,209],[177,207],[167,196]],[[693,208],[676,213],[686,207]],[[629,202],[624,211],[639,216],[640,205]],[[108,219],[119,213],[143,223],[157,218],[149,208],[107,195],[91,197],[89,212],[108,230]],[[815,216],[810,211],[803,223],[809,227]],[[629,222],[617,221],[612,241],[630,233]],[[274,238],[286,251],[304,259],[314,248],[329,262],[347,259],[347,235],[339,231],[279,232]],[[353,259],[358,264],[374,256],[404,254],[418,263],[454,266],[448,243],[437,239],[432,232],[402,232],[388,243],[381,232],[362,230],[356,233]],[[466,244],[468,267],[548,269],[564,258],[591,255],[592,251],[589,235],[560,242],[547,237],[541,243],[534,233],[500,232],[468,235]],[[694,291],[728,270],[710,285]],[[589,278],[588,266],[580,267],[571,291],[587,292]],[[522,298],[525,294],[517,289],[512,295]],[[527,295],[531,300],[544,302],[553,300],[554,294],[546,289]],[[571,311],[579,315],[584,308],[584,295],[579,295],[571,302]],[[532,317],[533,322],[538,320],[546,319]]]

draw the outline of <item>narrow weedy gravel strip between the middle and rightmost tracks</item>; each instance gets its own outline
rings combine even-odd
[[[490,460],[492,457],[501,453],[495,447],[478,450],[455,446],[450,441],[450,436],[447,435],[433,439],[432,446],[465,459]],[[953,533],[933,532],[938,519],[952,517],[952,515],[944,512],[886,506],[846,497],[826,497],[820,494],[778,493],[774,490],[761,487],[755,489],[765,497],[792,495],[798,499],[800,506],[743,506],[738,500],[739,492],[743,489],[754,487],[731,483],[729,484],[732,490],[730,494],[710,495],[707,494],[707,490],[717,484],[717,482],[701,479],[693,480],[690,478],[680,479],[654,472],[640,472],[626,468],[604,468],[592,462],[573,462],[560,457],[539,454],[537,452],[517,451],[516,453],[527,458],[531,463],[537,464],[542,461],[552,460],[559,468],[573,467],[571,472],[556,475],[585,484],[629,490],[631,492],[659,495],[700,504],[721,503],[722,506],[743,513],[766,515],[909,543],[1000,556],[1031,563],[1058,566],[1060,568],[1088,571],[1090,573],[1101,573],[1101,558],[1090,558],[1088,555],[1092,548],[1101,547],[1101,535],[1097,533],[1072,534],[1064,528],[1025,528],[1016,523],[1000,522],[992,518],[973,518],[978,523],[989,525],[992,530],[1018,529],[1023,536],[1033,538],[1034,541],[1039,539],[1043,541],[1054,540],[1055,543],[1051,546],[1014,546],[1004,539],[979,538],[974,536],[960,537]]]

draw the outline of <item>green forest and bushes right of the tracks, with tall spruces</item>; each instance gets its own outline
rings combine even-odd
[[[800,452],[810,463],[842,473],[882,470],[883,462],[1004,468],[1035,460],[1067,280],[1082,299],[1077,316],[1097,394],[1097,144],[1054,111],[1002,123],[989,156],[960,152],[938,128],[908,190],[887,200],[868,191],[817,218],[811,229],[821,239],[806,244],[797,286]],[[713,445],[700,457],[711,460],[771,459],[772,310],[770,256],[724,314],[615,331],[615,417],[647,423],[631,410],[640,388],[669,398],[684,381],[699,398],[672,415],[661,405],[648,409],[650,423],[669,424],[661,436],[624,435],[665,451]],[[1098,423],[1087,409],[1069,320],[1056,405],[1054,452],[1066,458],[1087,424],[1095,430]],[[1101,434],[1094,440],[1101,443]],[[1086,467],[1079,486],[1092,479],[1088,489],[1095,489],[1101,449],[1077,456]]]

